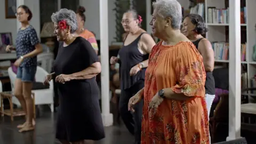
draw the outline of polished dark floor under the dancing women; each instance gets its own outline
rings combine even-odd
[[[19,133],[17,125],[24,122],[22,117],[14,118],[4,116],[0,119],[0,144],[53,144],[60,143],[55,140],[55,119],[56,114],[49,110],[44,111],[36,119],[35,131]],[[95,142],[95,144],[131,144],[133,136],[126,130],[124,125],[114,124],[105,127],[106,138]]]

